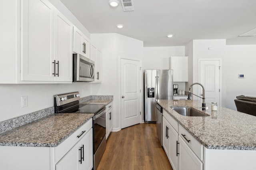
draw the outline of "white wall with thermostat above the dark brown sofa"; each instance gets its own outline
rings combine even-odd
[[[223,58],[223,84],[226,86],[226,107],[236,110],[236,96],[256,97],[256,45],[226,45]],[[245,78],[238,78],[244,74]]]

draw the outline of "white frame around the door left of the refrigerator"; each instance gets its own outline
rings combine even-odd
[[[122,125],[121,125],[121,122],[122,122],[122,107],[121,107],[121,104],[122,104],[122,99],[121,99],[121,91],[122,91],[122,89],[121,89],[121,60],[122,59],[125,59],[125,60],[133,60],[133,61],[139,61],[140,62],[140,69],[141,69],[141,75],[140,76],[142,76],[143,75],[143,72],[142,72],[142,60],[141,59],[136,59],[136,58],[132,58],[132,57],[126,57],[126,56],[121,56],[121,55],[119,55],[118,56],[118,58],[119,58],[119,61],[118,61],[118,63],[119,63],[119,71],[118,71],[118,77],[119,77],[119,84],[118,84],[118,86],[120,87],[119,88],[119,100],[118,100],[118,102],[119,102],[119,104],[120,104],[120,115],[119,115],[119,127],[120,127],[120,130],[122,129],[121,127],[122,127]],[[142,122],[142,79],[143,78],[141,78],[141,81],[140,81],[140,123],[144,123],[144,122]]]

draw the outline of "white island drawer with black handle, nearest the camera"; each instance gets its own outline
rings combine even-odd
[[[186,129],[184,129],[184,127],[182,127],[181,125],[179,125],[179,135],[182,139],[184,139],[188,147],[190,147],[190,149],[193,150],[196,156],[198,156],[200,160],[203,160],[204,159],[203,145],[199,143],[192,135],[190,135],[190,133],[188,133],[188,131],[186,131]],[[190,141],[188,142],[185,139],[185,137],[187,140],[190,140]]]

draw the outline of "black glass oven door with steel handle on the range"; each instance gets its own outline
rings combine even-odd
[[[93,117],[94,120],[94,154],[106,135],[106,107]],[[106,139],[105,139],[106,140]]]

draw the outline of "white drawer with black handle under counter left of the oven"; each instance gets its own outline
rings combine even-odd
[[[57,163],[90,129],[92,128],[92,118],[82,127],[77,129],[70,137],[63,141],[58,147],[55,147],[55,162]],[[86,131],[79,138],[82,131]]]

